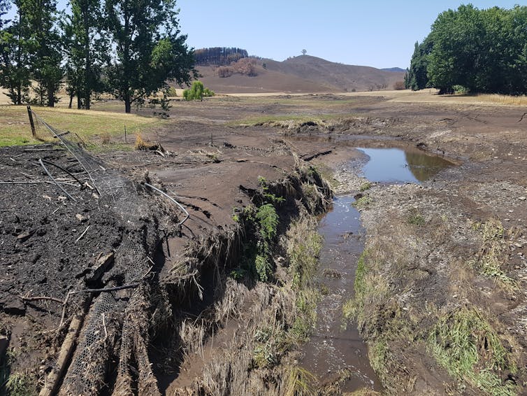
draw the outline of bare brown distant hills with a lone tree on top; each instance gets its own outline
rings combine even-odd
[[[391,90],[405,71],[383,71],[368,66],[329,62],[301,55],[283,62],[256,59],[256,76],[233,73],[219,77],[217,66],[197,66],[205,87],[219,93],[257,92],[353,92]]]

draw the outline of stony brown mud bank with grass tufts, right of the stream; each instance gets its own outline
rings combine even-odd
[[[362,164],[335,172],[342,190],[359,192]],[[526,189],[482,166],[361,193],[366,249],[344,311],[389,395],[527,391]]]

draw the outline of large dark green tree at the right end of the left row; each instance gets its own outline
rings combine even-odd
[[[131,104],[168,89],[168,79],[182,85],[197,78],[177,15],[175,0],[106,0],[107,28],[117,49],[108,83],[127,113]]]

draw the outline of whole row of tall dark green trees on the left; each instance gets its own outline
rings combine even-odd
[[[168,80],[197,78],[176,0],[69,4],[58,10],[57,0],[0,0],[0,85],[13,104],[53,107],[65,83],[70,107],[77,97],[77,107],[89,109],[106,92],[130,113],[166,92]]]

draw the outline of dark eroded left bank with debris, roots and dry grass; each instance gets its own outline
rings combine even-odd
[[[70,165],[55,146],[2,152],[3,181],[27,194],[1,219],[10,227],[2,242],[13,247],[1,290],[2,385],[11,393],[283,395],[316,386],[296,360],[315,320],[316,215],[331,199],[315,168],[297,160],[280,180],[240,185],[250,204],[233,210],[233,224],[182,243],[188,229],[165,197],[115,171],[119,188],[135,192],[126,211],[115,195],[107,202],[69,180],[68,201],[31,150]],[[31,190],[24,174],[36,181]],[[36,257],[29,266],[27,255]],[[150,263],[130,275],[137,255]]]

